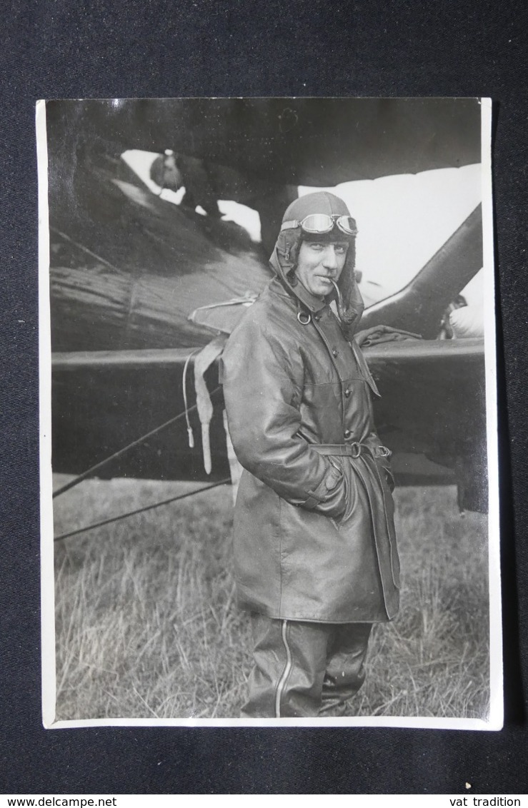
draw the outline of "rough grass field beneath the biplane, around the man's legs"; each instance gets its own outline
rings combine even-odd
[[[56,534],[191,488],[83,482],[55,501]],[[399,489],[395,502],[401,609],[374,629],[356,713],[485,718],[486,519],[462,518],[454,488]],[[231,524],[222,486],[55,545],[57,720],[238,716],[251,641]]]

